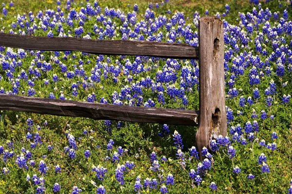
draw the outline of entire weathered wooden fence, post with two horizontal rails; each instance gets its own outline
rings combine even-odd
[[[212,134],[227,133],[224,90],[223,23],[215,16],[199,20],[199,48],[130,40],[91,40],[72,37],[37,37],[0,33],[0,46],[21,49],[76,50],[106,55],[142,55],[199,59],[200,111],[130,107],[39,97],[0,95],[0,110],[129,122],[198,126],[196,142],[201,153]],[[202,159],[201,155],[200,158]]]

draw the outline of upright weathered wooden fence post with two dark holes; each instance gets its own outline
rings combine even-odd
[[[216,16],[199,20],[200,116],[196,142],[209,146],[212,134],[227,134],[224,89],[223,22]]]

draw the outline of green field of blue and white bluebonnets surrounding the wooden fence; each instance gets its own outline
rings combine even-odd
[[[4,0],[0,30],[198,46],[200,17],[216,15],[224,22],[228,136],[213,137],[201,162],[194,127],[4,111],[0,193],[292,194],[291,3],[136,3]],[[198,64],[0,47],[0,93],[198,110]]]

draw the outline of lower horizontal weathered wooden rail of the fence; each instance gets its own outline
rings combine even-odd
[[[0,94],[0,110],[141,123],[198,126],[198,111],[130,107]]]

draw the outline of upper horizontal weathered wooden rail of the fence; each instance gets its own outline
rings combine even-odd
[[[199,48],[138,40],[92,40],[73,37],[40,37],[0,33],[0,46],[20,49],[75,50],[105,55],[141,55],[175,59],[199,59]]]

